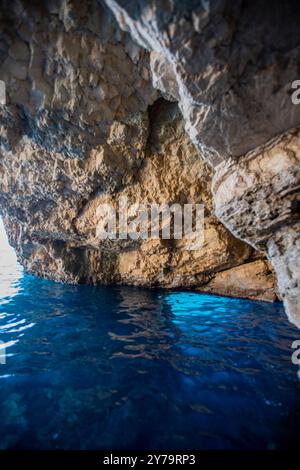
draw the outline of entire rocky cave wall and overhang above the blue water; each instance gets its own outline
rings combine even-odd
[[[300,124],[297,12],[106,3],[130,34],[96,0],[2,2],[0,211],[21,263],[59,281],[271,301],[267,253],[297,322],[298,132],[262,147]],[[203,203],[203,246],[102,240],[98,208],[120,197]]]

